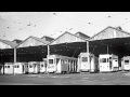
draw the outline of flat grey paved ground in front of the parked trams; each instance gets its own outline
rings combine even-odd
[[[0,75],[0,85],[130,85],[130,72]]]

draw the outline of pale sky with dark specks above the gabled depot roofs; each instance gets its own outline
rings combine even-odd
[[[57,38],[65,31],[90,37],[107,26],[130,32],[130,12],[0,12],[0,39]]]

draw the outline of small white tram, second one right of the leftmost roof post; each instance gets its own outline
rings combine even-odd
[[[40,63],[39,61],[29,61],[28,63],[28,73],[39,73],[40,72]]]

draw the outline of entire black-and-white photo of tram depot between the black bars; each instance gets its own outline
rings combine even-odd
[[[0,85],[130,85],[130,12],[0,12]]]

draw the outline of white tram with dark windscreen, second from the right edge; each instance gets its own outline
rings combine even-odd
[[[113,54],[100,55],[99,65],[100,65],[100,72],[118,71],[119,70],[118,56]]]

